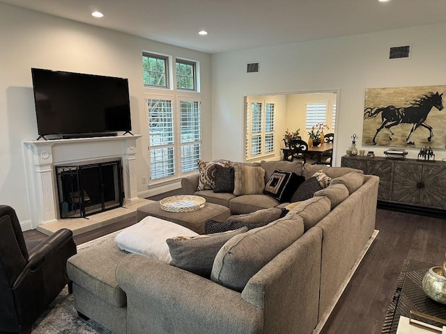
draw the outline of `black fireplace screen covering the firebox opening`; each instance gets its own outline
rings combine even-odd
[[[61,218],[85,217],[123,205],[121,161],[56,166]]]

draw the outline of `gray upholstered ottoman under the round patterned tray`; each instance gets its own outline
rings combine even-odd
[[[146,216],[162,218],[166,221],[183,225],[185,228],[189,228],[198,234],[204,234],[204,223],[206,221],[213,219],[224,223],[231,216],[231,212],[229,208],[223,205],[208,202],[204,203],[204,206],[197,211],[167,212],[161,209],[160,202],[151,202],[137,209],[138,221],[141,221]]]

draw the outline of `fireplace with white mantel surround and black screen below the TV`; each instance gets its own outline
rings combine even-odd
[[[31,228],[57,221],[59,218],[68,218],[70,215],[70,218],[76,215],[89,216],[125,205],[122,202],[124,196],[125,202],[137,200],[136,141],[139,137],[141,135],[25,142]],[[90,169],[87,167],[89,165],[100,165],[100,168]],[[70,191],[64,190],[60,193],[58,179],[61,175],[57,174],[58,167],[66,168],[58,169],[64,178],[70,173],[76,174],[73,176],[71,194]],[[96,170],[93,171],[94,169]],[[119,176],[120,170],[122,177]],[[102,191],[96,193],[89,188],[90,184],[93,184],[91,180],[94,175],[98,177],[95,182],[100,188],[103,187],[107,195],[103,195]],[[105,179],[113,177],[114,181],[102,186],[101,175]],[[84,179],[87,180],[86,185],[84,182],[84,188],[80,189],[77,182]],[[75,193],[76,191],[78,193]],[[59,201],[60,198],[62,202]]]

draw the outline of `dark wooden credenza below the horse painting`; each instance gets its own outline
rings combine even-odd
[[[446,213],[446,163],[385,157],[342,157],[341,166],[380,177],[381,207],[426,214]]]

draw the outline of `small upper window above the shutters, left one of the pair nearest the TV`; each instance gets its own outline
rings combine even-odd
[[[144,86],[169,87],[167,57],[155,54],[142,54]]]

